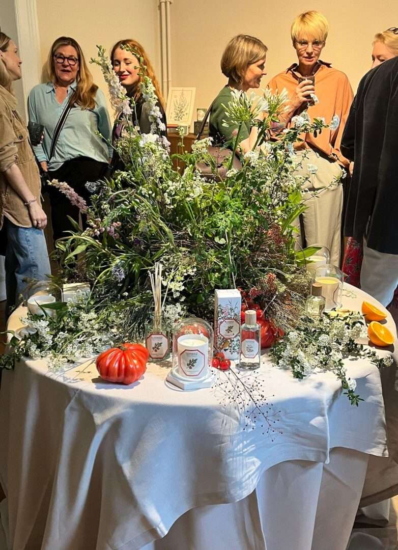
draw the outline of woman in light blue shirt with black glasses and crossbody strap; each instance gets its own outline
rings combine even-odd
[[[57,38],[46,68],[49,81],[35,86],[28,99],[29,119],[44,127],[44,140],[34,147],[35,155],[48,179],[67,182],[89,201],[86,183],[100,179],[112,157],[106,141],[111,128],[105,96],[93,83],[73,38]],[[49,188],[49,196],[56,241],[72,229],[68,216],[79,221],[79,210],[58,189]]]

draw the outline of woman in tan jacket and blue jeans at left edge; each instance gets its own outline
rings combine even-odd
[[[14,41],[0,31],[0,228],[5,249],[7,306],[18,304],[26,278],[51,273],[43,229],[40,175],[29,146],[26,124],[16,110],[12,83],[22,61]]]

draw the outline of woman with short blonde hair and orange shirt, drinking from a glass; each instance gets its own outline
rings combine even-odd
[[[293,63],[270,80],[268,87],[281,92],[286,89],[289,103],[281,122],[290,127],[293,117],[308,109],[308,116],[324,117],[329,123],[335,117],[333,129],[317,135],[302,135],[295,144],[296,173],[305,178],[303,191],[309,195],[307,210],[302,214],[301,245],[321,244],[330,251],[330,261],[340,265],[342,186],[333,182],[344,175],[349,161],[340,151],[345,120],[352,102],[352,90],[347,76],[320,60],[329,25],[319,12],[298,15],[291,26],[291,40],[297,55]]]

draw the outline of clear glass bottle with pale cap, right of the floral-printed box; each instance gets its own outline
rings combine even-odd
[[[254,371],[261,363],[261,328],[255,310],[245,311],[245,323],[240,329],[240,363],[244,371]]]

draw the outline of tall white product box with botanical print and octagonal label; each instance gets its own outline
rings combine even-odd
[[[236,361],[240,354],[239,290],[215,290],[214,294],[214,348],[223,351],[225,359]]]

